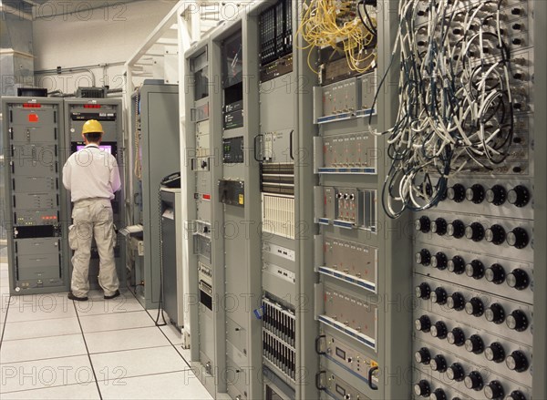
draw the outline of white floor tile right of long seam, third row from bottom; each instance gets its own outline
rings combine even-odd
[[[170,344],[155,326],[124,331],[85,333],[85,336],[89,353],[160,347]]]

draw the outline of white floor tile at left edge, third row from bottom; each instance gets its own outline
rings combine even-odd
[[[63,340],[56,336],[2,342],[2,363],[41,360],[87,354],[84,339],[80,334],[67,334]]]

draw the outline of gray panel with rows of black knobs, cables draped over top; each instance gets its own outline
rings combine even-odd
[[[415,114],[389,130],[383,204],[392,218],[413,211],[416,399],[532,398],[535,4],[399,8],[397,56],[412,48],[401,67],[416,68],[400,77],[399,111]],[[451,67],[437,75],[440,65]]]

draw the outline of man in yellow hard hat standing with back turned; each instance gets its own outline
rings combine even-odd
[[[68,228],[68,243],[74,250],[72,281],[68,298],[85,302],[89,291],[91,241],[95,237],[99,262],[98,283],[105,299],[119,296],[119,280],[114,262],[116,233],[112,205],[114,193],[121,187],[116,158],[99,149],[104,131],[95,119],[82,128],[86,148],[72,154],[63,167],[63,184],[70,195],[73,225]]]

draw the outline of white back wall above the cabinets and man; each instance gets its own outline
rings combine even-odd
[[[97,66],[90,68],[97,86],[121,88],[123,63],[176,3],[175,0],[130,3],[55,0],[36,7],[35,70]],[[105,4],[109,6],[94,8]],[[73,93],[78,86],[91,84],[88,71],[36,74],[36,86],[64,93]]]

